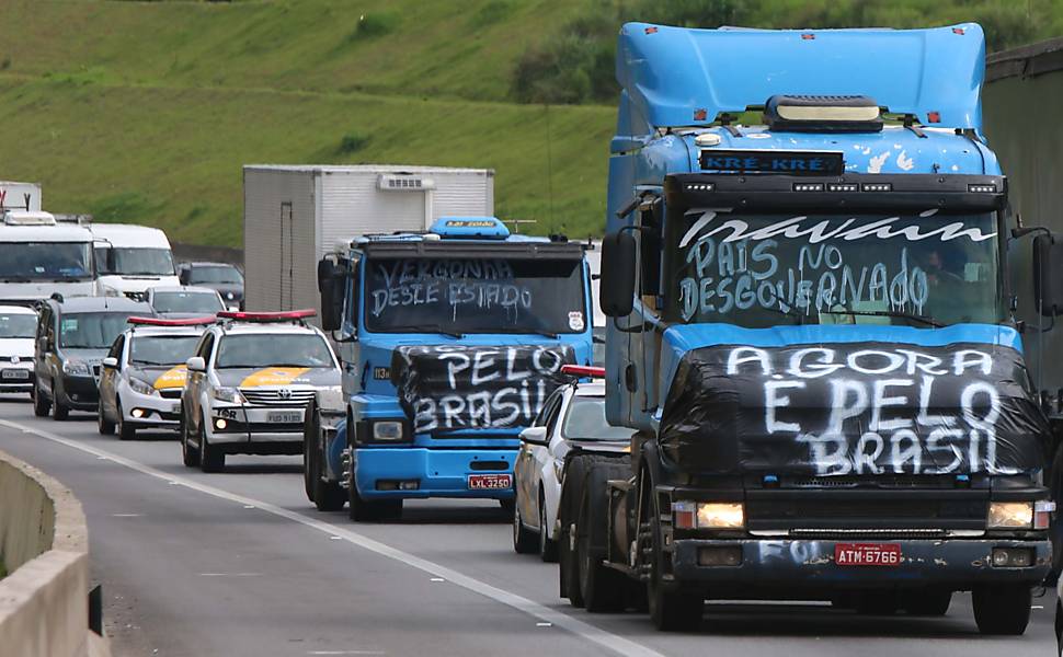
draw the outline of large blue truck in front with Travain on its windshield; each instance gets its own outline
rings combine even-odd
[[[1016,226],[981,135],[984,37],[622,27],[603,243],[606,413],[565,464],[561,595],[821,599],[1021,634],[1050,569],[1053,437],[1014,319]],[[1044,322],[1045,330],[1049,322]],[[1036,338],[1035,338],[1036,339]]]

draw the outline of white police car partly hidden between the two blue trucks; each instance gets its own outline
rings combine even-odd
[[[557,557],[555,530],[565,458],[575,452],[624,458],[633,433],[605,419],[603,368],[565,365],[561,373],[582,380],[559,387],[547,397],[532,426],[521,431],[521,451],[513,466],[513,549],[538,552],[542,561]]]

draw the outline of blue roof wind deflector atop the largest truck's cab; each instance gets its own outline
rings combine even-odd
[[[841,94],[976,130],[984,60],[985,37],[975,23],[801,31],[628,23],[617,43],[616,76],[653,127],[709,125],[722,112],[740,113],[775,94]]]

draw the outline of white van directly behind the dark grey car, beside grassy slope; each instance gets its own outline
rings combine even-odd
[[[111,297],[146,301],[148,288],[181,285],[167,233],[129,223],[93,223],[100,289]]]

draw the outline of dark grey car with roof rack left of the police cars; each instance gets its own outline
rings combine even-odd
[[[101,361],[126,320],[152,315],[151,307],[121,297],[48,299],[37,319],[33,358],[33,412],[66,419],[71,410],[95,412]]]

